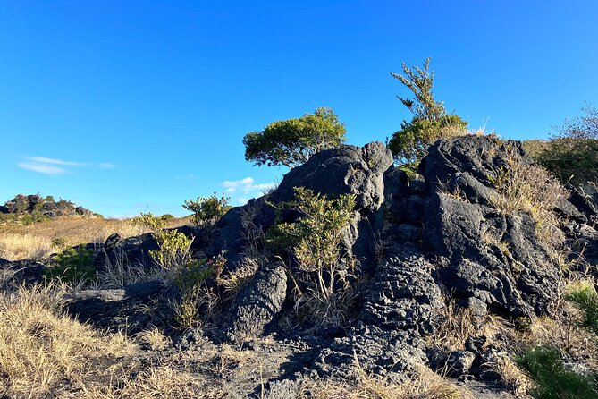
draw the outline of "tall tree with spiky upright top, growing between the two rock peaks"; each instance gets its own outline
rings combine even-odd
[[[411,170],[417,170],[419,161],[434,141],[462,135],[467,126],[459,115],[447,114],[442,101],[434,99],[434,71],[429,67],[430,58],[427,58],[424,69],[417,66],[411,69],[402,64],[404,75],[391,72],[392,77],[411,90],[415,98],[397,96],[414,116],[411,122],[401,123],[400,131],[392,134],[387,146],[397,162]]]

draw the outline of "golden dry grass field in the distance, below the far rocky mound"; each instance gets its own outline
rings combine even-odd
[[[61,250],[52,245],[56,239],[71,247],[80,243],[103,243],[112,233],[131,237],[149,232],[133,220],[64,217],[33,225],[0,225],[0,258],[44,259],[50,253]],[[189,218],[183,217],[173,219],[167,227],[188,223]]]

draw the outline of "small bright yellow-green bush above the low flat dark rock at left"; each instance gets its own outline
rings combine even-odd
[[[189,247],[193,239],[177,230],[160,230],[154,233],[158,250],[150,250],[149,256],[164,269],[186,264],[190,258]]]

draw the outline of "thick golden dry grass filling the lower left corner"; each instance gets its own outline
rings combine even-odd
[[[36,286],[0,294],[0,395],[37,398],[84,386],[94,369],[132,351],[123,335],[102,335],[63,315],[62,293]]]

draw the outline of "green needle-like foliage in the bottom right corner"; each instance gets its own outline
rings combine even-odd
[[[535,382],[531,394],[536,399],[591,399],[598,397],[596,378],[568,369],[555,349],[539,346],[515,359]]]

